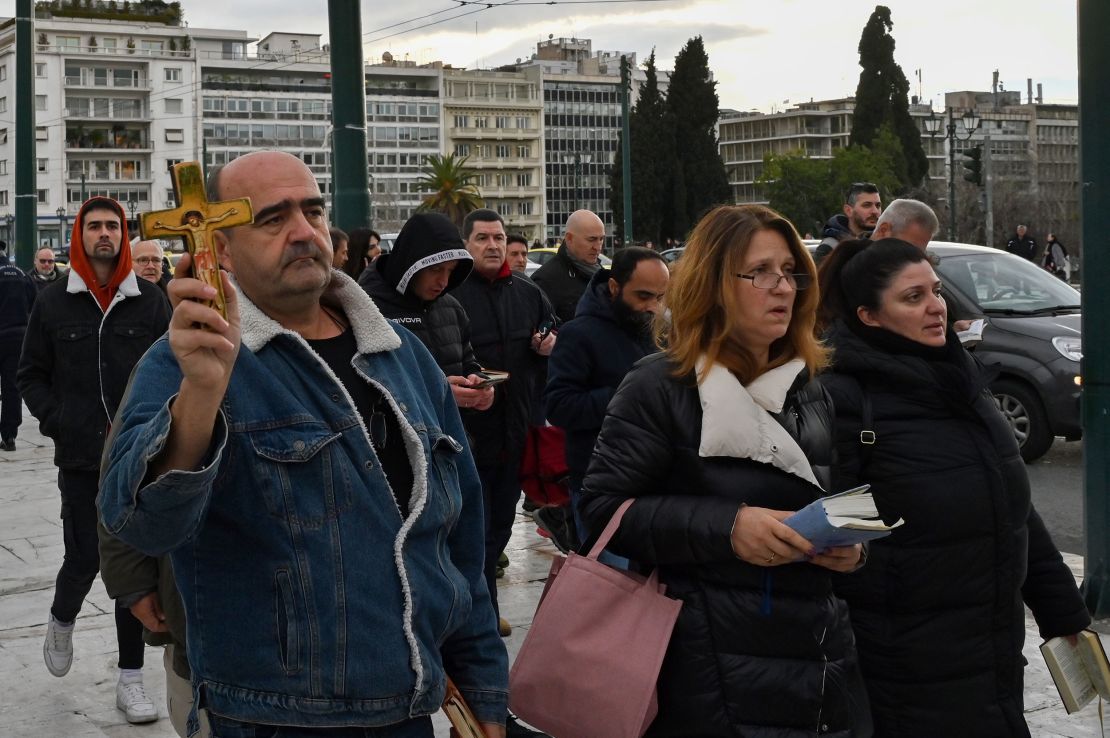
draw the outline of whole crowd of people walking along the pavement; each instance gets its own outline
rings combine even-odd
[[[426,738],[448,681],[486,738],[542,736],[507,711],[497,570],[552,425],[569,546],[630,499],[605,560],[682,601],[648,736],[1028,735],[1023,607],[1045,637],[1090,618],[956,337],[924,203],[854,184],[819,270],[760,205],[708,212],[674,272],[643,246],[603,266],[578,211],[529,279],[488,209],[418,213],[377,253],[285,153],[208,191],[255,212],[210,235],[226,319],[107,198],[68,274],[0,250],[0,448],[21,392],[59,468],[50,674],[99,572],[131,722],[159,717],[145,640],[181,736]],[[905,519],[888,537],[818,549],[784,523],[865,483]]]

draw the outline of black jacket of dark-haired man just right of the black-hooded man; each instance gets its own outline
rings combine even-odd
[[[453,294],[471,321],[478,363],[509,373],[508,381],[497,385],[490,410],[463,411],[474,459],[478,466],[519,464],[547,365],[532,350],[532,336],[554,320],[551,303],[528,277],[509,272],[507,265],[492,282],[471,273]]]

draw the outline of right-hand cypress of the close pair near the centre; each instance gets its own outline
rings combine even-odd
[[[674,164],[667,178],[663,234],[685,237],[713,205],[730,202],[725,163],[717,149],[717,83],[700,36],[675,57],[667,90],[667,118],[674,141]]]

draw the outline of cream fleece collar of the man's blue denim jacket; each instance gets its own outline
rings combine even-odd
[[[234,277],[232,277],[234,282]],[[258,353],[279,335],[300,335],[273,320],[239,290],[239,317],[243,345]],[[360,354],[376,354],[401,347],[401,338],[385,320],[377,305],[359,283],[337,270],[332,270],[332,281],[324,290],[321,302],[340,307],[347,316]]]

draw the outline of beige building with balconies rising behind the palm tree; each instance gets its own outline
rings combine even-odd
[[[444,144],[467,156],[506,229],[544,237],[544,102],[523,72],[443,70]]]

